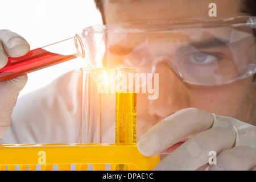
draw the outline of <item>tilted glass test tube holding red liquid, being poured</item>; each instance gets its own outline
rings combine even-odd
[[[33,49],[24,56],[8,57],[6,66],[0,69],[0,81],[84,56],[84,46],[76,34],[72,38]]]

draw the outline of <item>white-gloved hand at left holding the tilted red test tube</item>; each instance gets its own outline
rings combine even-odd
[[[23,56],[29,50],[30,45],[20,35],[9,30],[0,30],[0,68],[5,67],[8,56]],[[26,82],[27,75],[0,82],[0,140],[9,129],[13,107]]]

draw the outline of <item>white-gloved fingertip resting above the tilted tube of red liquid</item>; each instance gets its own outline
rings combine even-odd
[[[10,30],[0,30],[0,42],[10,57],[23,56],[30,50],[30,45],[27,41],[19,34]]]

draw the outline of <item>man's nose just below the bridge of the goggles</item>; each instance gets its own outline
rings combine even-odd
[[[159,75],[159,97],[150,100],[148,112],[161,119],[189,106],[188,88],[167,61],[159,61],[154,73]]]

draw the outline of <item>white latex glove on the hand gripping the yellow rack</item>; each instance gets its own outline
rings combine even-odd
[[[183,109],[163,119],[143,135],[138,149],[150,156],[188,137],[155,170],[256,169],[256,127],[199,109]]]

